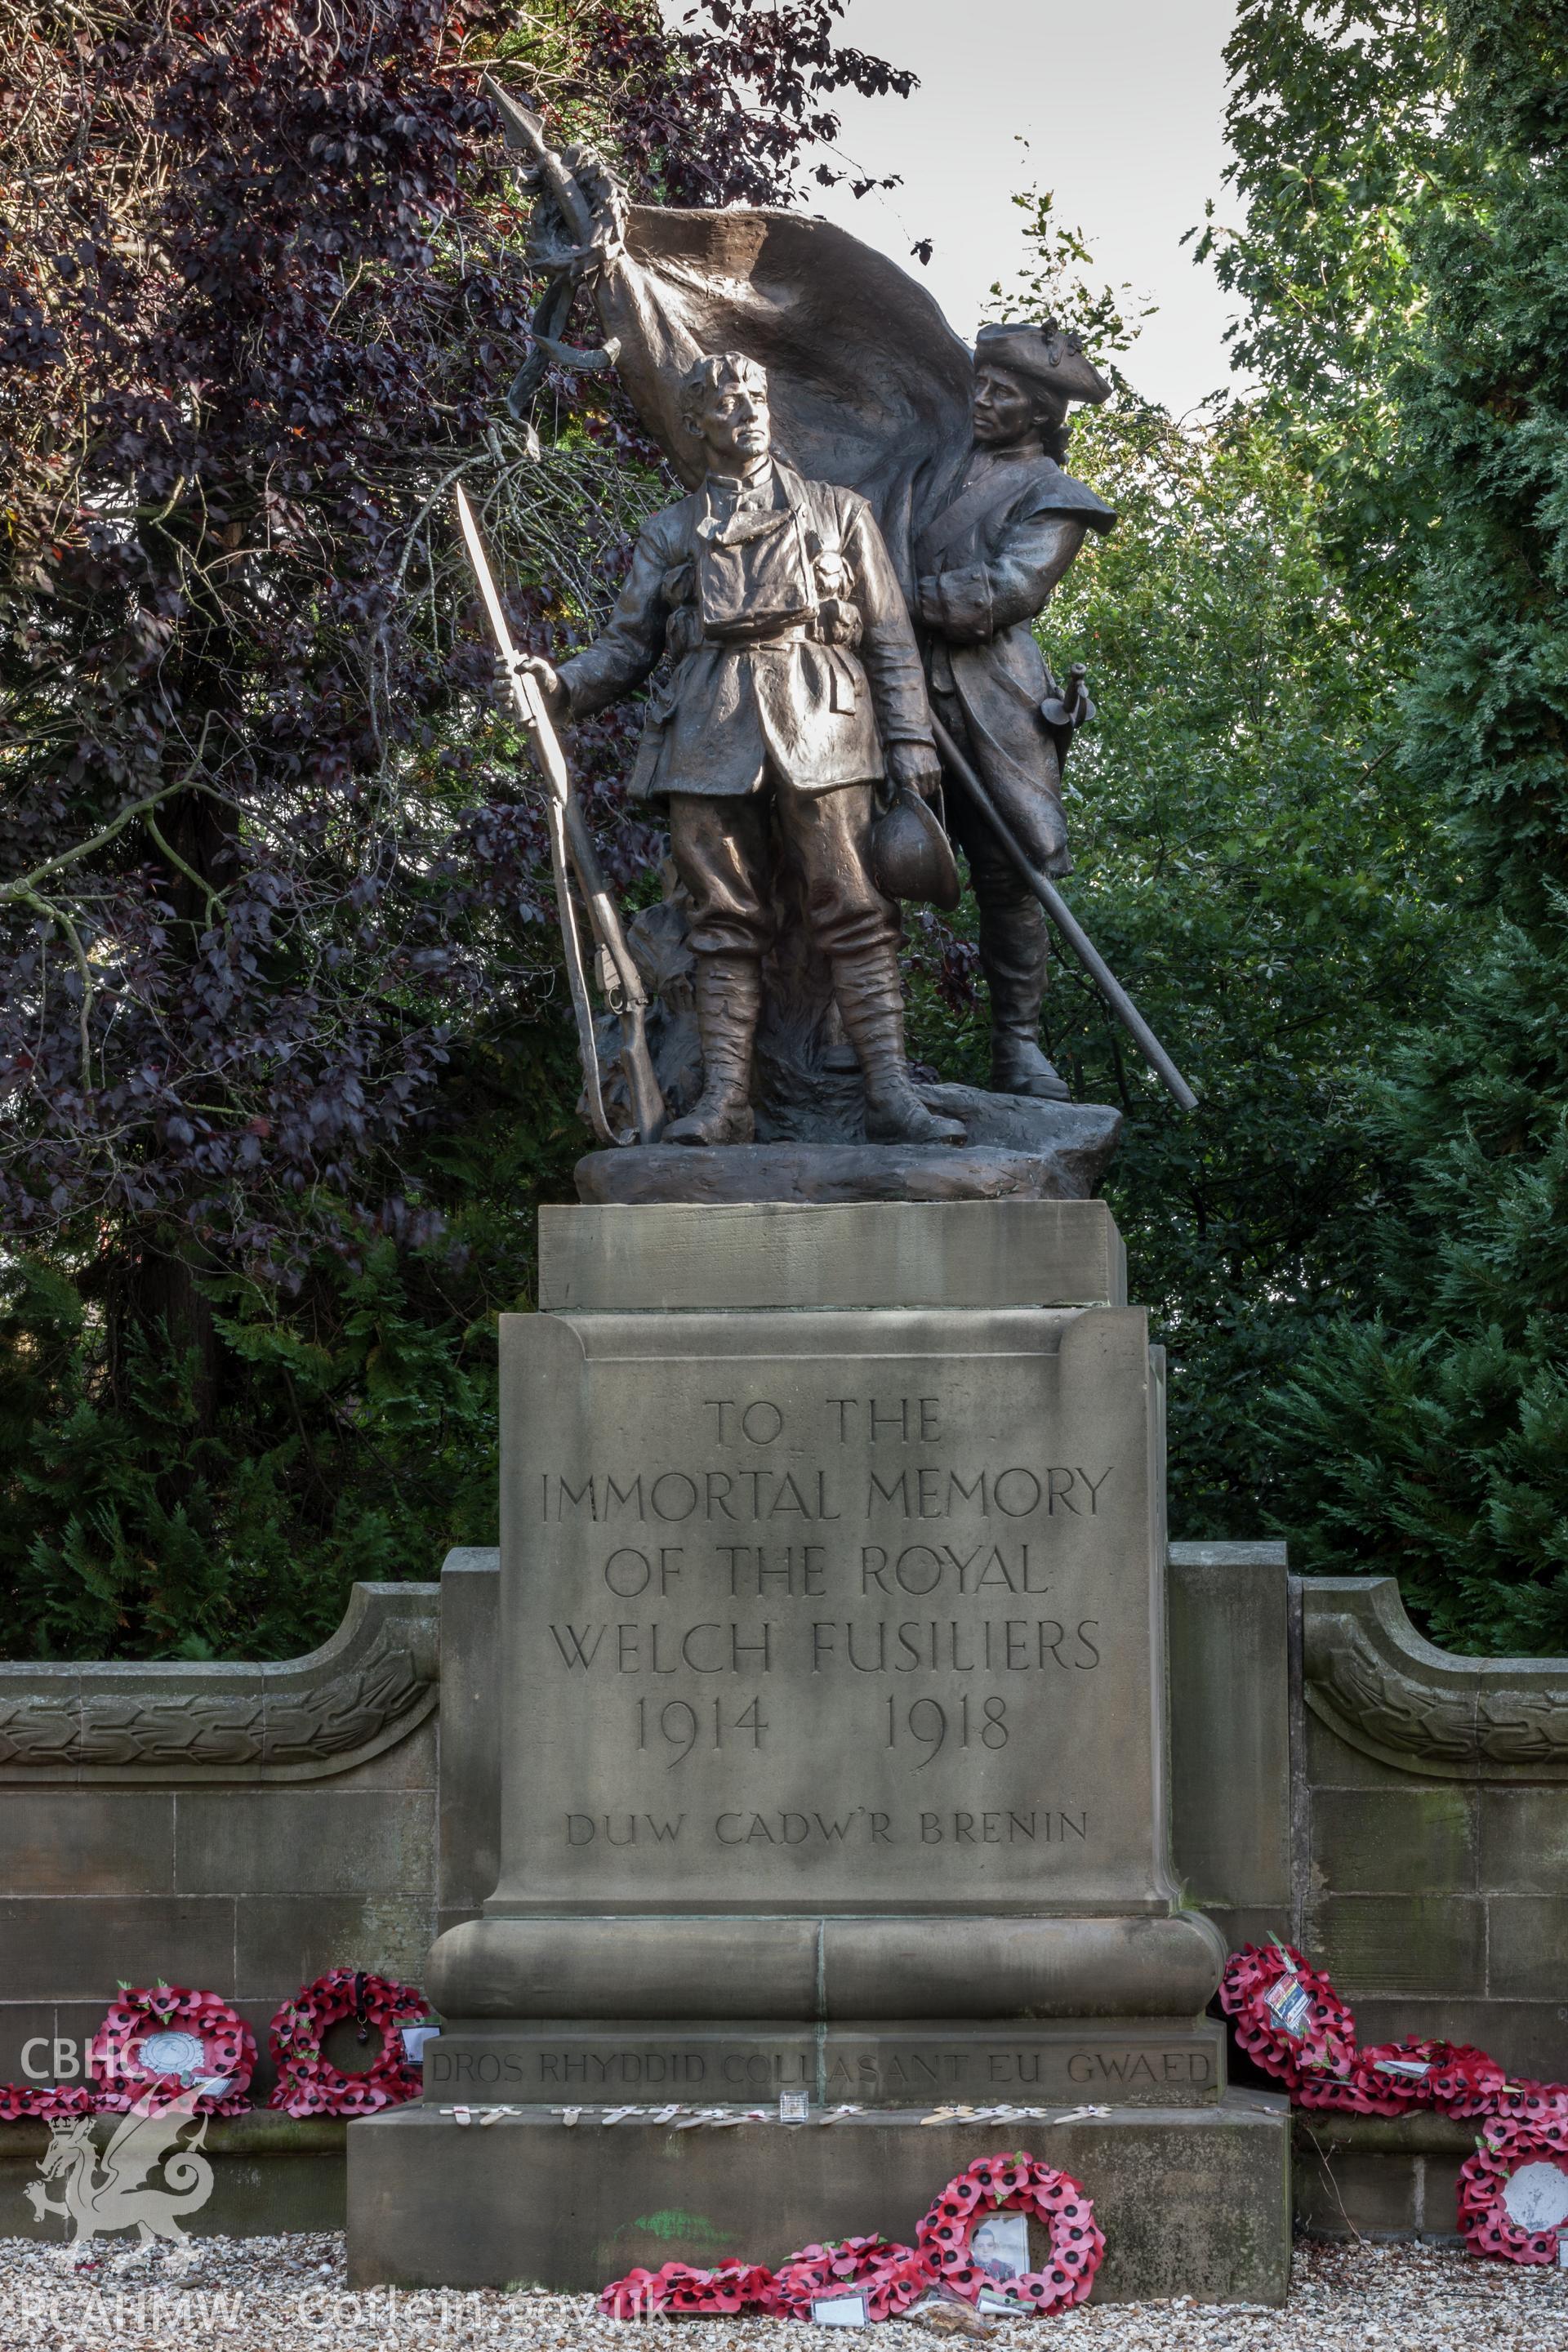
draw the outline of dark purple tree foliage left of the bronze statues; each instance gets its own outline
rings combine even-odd
[[[839,0],[82,0],[0,33],[0,1221],[292,1282],[418,1240],[400,1155],[559,1000],[548,856],[451,534],[564,652],[668,496],[614,386],[503,395],[538,285],[480,73],[632,193],[788,202]],[[832,162],[816,165],[832,179]],[[614,880],[632,715],[571,755]],[[181,1240],[183,1237],[183,1240]]]

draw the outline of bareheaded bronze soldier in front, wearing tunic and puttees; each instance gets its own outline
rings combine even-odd
[[[708,480],[654,515],[609,628],[552,670],[583,717],[672,661],[644,727],[632,793],[668,802],[691,894],[703,1094],[668,1143],[752,1138],[752,1040],[776,927],[776,840],[799,868],[865,1080],[875,1143],[961,1143],[910,1084],[898,908],[872,877],[877,786],[931,795],[940,764],[898,579],[865,499],[804,482],[771,449],[764,372],[698,360],[682,386]]]

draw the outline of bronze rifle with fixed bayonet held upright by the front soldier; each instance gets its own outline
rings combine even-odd
[[[512,684],[512,696],[517,701],[517,717],[522,720],[529,750],[534,755],[534,767],[545,786],[545,821],[550,828],[550,866],[555,870],[555,901],[562,915],[562,946],[567,950],[567,983],[571,988],[571,1011],[576,1014],[578,1051],[583,1056],[583,1087],[588,1091],[588,1117],[599,1143],[658,1143],[665,1127],[665,1098],[658,1091],[658,1080],[654,1077],[654,1058],[649,1054],[649,1030],[646,1011],[649,997],[642,985],[642,974],[632,960],[632,950],[625,943],[625,931],[621,929],[621,917],[616,913],[616,901],[609,896],[604,882],[604,870],[599,868],[599,854],[592,844],[588,821],[578,807],[578,797],[571,790],[571,776],[567,771],[567,755],[562,753],[559,736],[550,724],[550,713],[545,710],[545,699],[538,691],[538,682],[524,670],[517,647],[512,644],[512,633],[505,626],[505,614],[501,612],[501,597],[496,595],[496,581],[491,579],[489,562],[484,557],[484,543],[480,541],[480,527],[473,517],[473,508],[463,496],[463,485],[458,482],[458,522],[463,524],[463,539],[468,543],[468,560],[473,562],[475,579],[480,583],[480,595],[484,597],[484,612],[489,614],[491,635],[501,652],[501,663]],[[583,901],[588,906],[588,922],[592,936],[602,953],[602,976],[604,967],[614,974],[614,985],[607,985],[609,1009],[621,1021],[621,1073],[625,1077],[625,1091],[632,1105],[632,1129],[616,1134],[609,1124],[604,1110],[604,1087],[599,1082],[599,1044],[592,1030],[592,1004],[588,997],[588,971],[583,969],[583,941],[578,936],[576,903],[571,898],[571,870],[576,870]],[[616,1002],[618,990],[618,1002]]]

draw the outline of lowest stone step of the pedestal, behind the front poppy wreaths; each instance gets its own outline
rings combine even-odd
[[[724,2131],[607,2131],[588,2114],[567,2129],[548,2107],[480,2129],[400,2107],[348,2126],[350,2284],[585,2291],[632,2265],[778,2263],[849,2232],[907,2244],[943,2183],[997,2147],[1060,2164],[1093,2197],[1095,2303],[1284,2303],[1291,2114],[1255,2091],[1065,2124],[863,2114]]]

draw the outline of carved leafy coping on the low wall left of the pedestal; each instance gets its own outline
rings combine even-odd
[[[0,1665],[0,1773],[284,1778],[346,1771],[437,1698],[433,1585],[355,1585],[339,1632],[284,1665]]]

